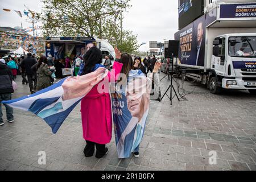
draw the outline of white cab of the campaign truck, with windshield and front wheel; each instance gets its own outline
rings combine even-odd
[[[225,34],[213,41],[209,89],[212,93],[223,89],[256,91],[256,34]]]

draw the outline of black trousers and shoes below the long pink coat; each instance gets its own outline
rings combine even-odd
[[[96,146],[96,158],[102,158],[102,156],[105,155],[106,145],[90,142],[88,140],[86,140],[86,146],[84,148],[84,155],[86,157],[93,156],[95,146]]]

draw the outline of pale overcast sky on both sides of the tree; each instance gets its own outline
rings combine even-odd
[[[26,18],[20,18],[14,11],[6,12],[2,9],[24,11],[24,4],[32,11],[40,12],[42,3],[40,0],[0,0],[0,26],[15,27],[23,24],[23,28],[31,26]],[[131,9],[125,13],[123,27],[138,35],[138,41],[142,46],[140,51],[149,49],[149,41],[164,42],[163,39],[174,39],[178,28],[178,1],[177,0],[131,0]],[[23,13],[22,13],[23,14]]]

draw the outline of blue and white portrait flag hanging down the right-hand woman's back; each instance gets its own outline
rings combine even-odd
[[[151,80],[140,70],[130,71],[125,85],[116,84],[111,94],[118,158],[139,151],[150,104]]]

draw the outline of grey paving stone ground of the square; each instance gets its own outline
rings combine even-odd
[[[29,93],[20,76],[16,82],[19,89],[13,98]],[[162,93],[168,85],[163,79]],[[55,135],[42,119],[15,109],[15,122],[0,126],[0,170],[255,171],[256,96],[247,91],[213,95],[189,82],[184,89],[193,90],[187,101],[174,98],[172,106],[167,97],[161,103],[151,101],[139,158],[118,159],[114,131],[108,155],[85,158],[80,105]],[[6,119],[5,109],[3,114]],[[38,164],[39,151],[46,152],[46,165]],[[209,164],[210,151],[216,151],[216,164]]]

